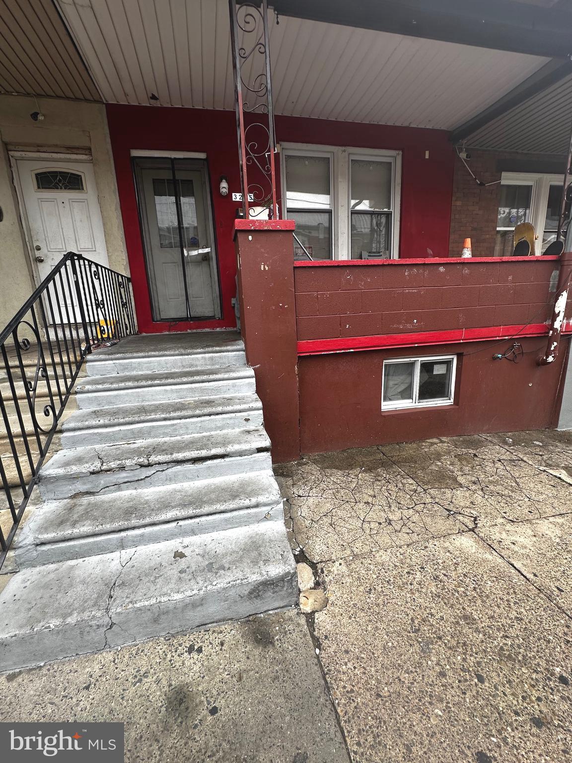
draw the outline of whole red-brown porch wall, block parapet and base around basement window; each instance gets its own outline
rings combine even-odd
[[[297,264],[301,452],[555,426],[569,340],[551,367],[536,359],[558,266],[558,258]],[[506,339],[458,341],[471,331]],[[380,349],[352,351],[365,337]],[[397,339],[405,346],[392,347]],[[516,340],[519,363],[493,360]],[[384,359],[434,355],[458,356],[455,403],[382,411]]]

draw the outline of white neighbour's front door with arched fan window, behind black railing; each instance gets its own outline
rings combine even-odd
[[[18,159],[16,164],[38,282],[67,252],[108,266],[92,163]]]

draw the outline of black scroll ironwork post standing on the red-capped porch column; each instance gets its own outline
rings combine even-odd
[[[229,0],[229,9],[244,216],[268,209],[278,219],[267,0]]]

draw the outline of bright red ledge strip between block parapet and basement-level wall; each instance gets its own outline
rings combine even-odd
[[[564,334],[572,333],[567,322]],[[326,353],[355,353],[365,349],[390,349],[391,347],[425,347],[434,344],[457,344],[462,342],[487,342],[512,339],[513,336],[548,335],[548,324],[520,324],[516,326],[487,326],[476,329],[451,329],[448,331],[419,331],[419,333],[376,334],[375,336],[343,336],[338,339],[315,339],[298,342],[298,355],[325,355]]]

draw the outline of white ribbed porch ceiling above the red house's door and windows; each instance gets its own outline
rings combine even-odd
[[[57,2],[105,101],[233,108],[227,0]],[[548,61],[273,13],[270,43],[278,114],[445,130]]]

